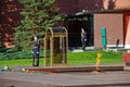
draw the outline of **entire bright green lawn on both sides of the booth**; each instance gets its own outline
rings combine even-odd
[[[68,53],[68,64],[95,64],[96,62],[96,53],[99,51],[92,51],[92,52],[69,52]],[[102,53],[101,57],[101,63],[122,63],[122,52],[105,52],[100,51]],[[0,66],[3,65],[26,65],[30,66],[32,62],[32,59],[20,59],[20,60],[4,60],[0,61]],[[42,66],[43,59],[40,59],[40,66]]]

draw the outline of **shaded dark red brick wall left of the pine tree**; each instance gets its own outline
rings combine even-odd
[[[1,0],[0,1],[0,33],[2,34],[3,45],[8,48],[13,45],[14,27],[20,25],[23,5],[17,0]]]

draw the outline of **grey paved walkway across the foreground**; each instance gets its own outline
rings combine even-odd
[[[129,87],[130,71],[18,73],[0,72],[0,87]]]

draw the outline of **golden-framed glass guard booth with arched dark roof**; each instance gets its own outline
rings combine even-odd
[[[67,64],[68,34],[65,27],[49,27],[44,37],[44,65]]]

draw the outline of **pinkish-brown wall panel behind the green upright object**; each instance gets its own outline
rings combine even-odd
[[[106,27],[108,46],[123,45],[123,21],[122,14],[94,14],[94,46],[102,47],[101,28]]]

